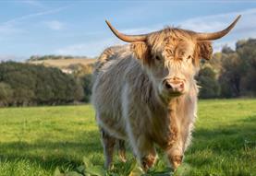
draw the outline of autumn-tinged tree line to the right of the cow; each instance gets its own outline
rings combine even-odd
[[[256,95],[256,40],[238,41],[236,49],[223,47],[212,60],[201,62],[200,98],[238,98]]]

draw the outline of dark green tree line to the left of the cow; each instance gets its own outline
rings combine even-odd
[[[0,106],[56,105],[88,101],[91,76],[14,62],[0,64]]]

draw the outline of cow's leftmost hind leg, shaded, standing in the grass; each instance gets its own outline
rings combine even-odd
[[[113,154],[116,144],[116,138],[109,135],[104,129],[102,129],[102,137],[103,137],[103,145],[104,145],[104,167],[106,169],[111,169],[112,161],[113,161]]]

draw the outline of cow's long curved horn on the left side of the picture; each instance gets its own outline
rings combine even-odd
[[[119,38],[122,41],[135,42],[135,41],[146,41],[147,40],[147,34],[126,35],[126,34],[120,33],[107,20],[105,20],[105,22],[106,22],[107,26],[112,30],[112,32],[116,35],[116,37]]]

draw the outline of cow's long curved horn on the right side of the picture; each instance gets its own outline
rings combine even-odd
[[[229,25],[226,29],[223,29],[221,31],[217,31],[217,32],[213,32],[213,33],[196,33],[195,37],[198,41],[213,41],[216,39],[220,39],[223,36],[225,36],[231,29],[233,29],[235,27],[235,25],[238,22],[238,19],[241,17],[241,15],[238,16],[238,18],[236,18],[234,20],[234,22]]]

